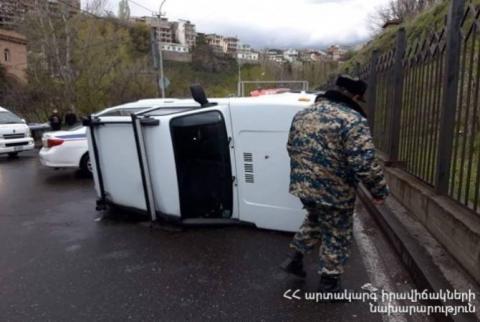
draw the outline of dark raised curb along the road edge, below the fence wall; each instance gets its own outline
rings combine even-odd
[[[400,256],[402,263],[410,273],[412,280],[419,290],[439,292],[440,290],[454,290],[453,285],[445,278],[440,268],[435,264],[428,251],[411,236],[403,224],[396,218],[387,206],[375,206],[369,193],[362,185],[359,186],[358,195],[370,215],[373,216],[389,242]],[[428,305],[452,305],[459,303],[447,301],[425,302]],[[472,315],[445,316],[433,315],[439,321],[476,321]]]

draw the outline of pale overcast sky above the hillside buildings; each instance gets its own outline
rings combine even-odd
[[[117,14],[118,0],[107,0]],[[158,12],[161,0],[133,0]],[[166,0],[170,20],[188,19],[197,31],[237,36],[255,48],[323,48],[371,35],[369,15],[389,0]],[[82,0],[85,4],[86,0]],[[132,16],[152,15],[130,1]]]

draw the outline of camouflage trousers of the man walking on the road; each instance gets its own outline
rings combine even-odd
[[[305,205],[308,214],[290,247],[305,254],[320,243],[320,274],[343,274],[353,236],[353,209]]]

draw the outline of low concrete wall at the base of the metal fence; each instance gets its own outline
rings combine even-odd
[[[480,283],[480,215],[436,195],[402,170],[387,168],[385,175],[392,194]]]

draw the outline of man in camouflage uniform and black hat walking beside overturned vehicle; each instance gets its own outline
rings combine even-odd
[[[336,85],[336,90],[319,96],[313,107],[295,115],[287,144],[290,193],[300,198],[307,216],[281,267],[305,277],[303,255],[320,243],[321,292],[341,289],[358,183],[363,182],[377,204],[388,195],[366,115],[357,103],[367,85],[346,76],[340,76]]]

